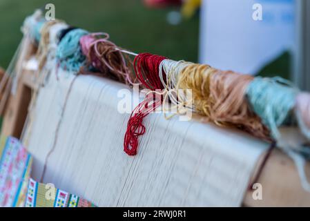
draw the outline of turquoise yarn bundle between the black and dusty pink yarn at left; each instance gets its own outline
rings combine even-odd
[[[78,28],[71,30],[61,39],[56,52],[61,68],[78,72],[82,66],[86,65],[86,57],[81,52],[79,44],[79,39],[84,35],[88,35],[88,32]]]

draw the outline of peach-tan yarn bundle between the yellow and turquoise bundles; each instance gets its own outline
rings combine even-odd
[[[255,137],[269,140],[269,130],[245,99],[246,87],[251,81],[251,75],[213,70],[209,79],[209,117],[217,125],[235,126]]]

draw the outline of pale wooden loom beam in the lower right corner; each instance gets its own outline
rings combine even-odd
[[[306,173],[310,177],[310,162]],[[253,190],[249,190],[244,206],[310,206],[310,193],[302,188],[294,162],[278,149],[271,153],[258,183],[262,184],[262,200],[253,200]]]

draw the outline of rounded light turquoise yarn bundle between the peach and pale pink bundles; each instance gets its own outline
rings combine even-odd
[[[256,77],[249,84],[246,96],[253,111],[268,126],[275,140],[280,138],[278,127],[291,116],[298,89],[280,77]]]

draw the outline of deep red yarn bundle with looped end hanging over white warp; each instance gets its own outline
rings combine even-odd
[[[164,89],[159,78],[159,65],[166,57],[142,53],[135,57],[133,61],[137,79],[148,89]],[[163,73],[166,75],[165,73]],[[144,117],[155,111],[162,104],[162,95],[148,93],[130,115],[127,124],[127,131],[124,138],[124,151],[128,155],[136,155],[138,147],[138,137],[146,132],[142,124]]]

